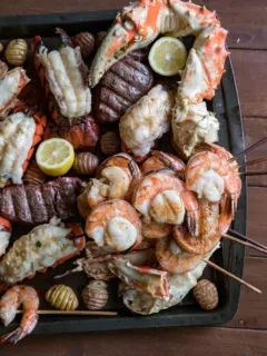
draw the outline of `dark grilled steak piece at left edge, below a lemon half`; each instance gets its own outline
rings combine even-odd
[[[53,216],[75,217],[81,189],[78,178],[58,178],[43,185],[14,185],[0,189],[0,215],[12,222],[37,225]]]

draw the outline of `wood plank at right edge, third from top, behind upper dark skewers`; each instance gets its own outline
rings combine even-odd
[[[267,120],[265,118],[245,118],[244,131],[246,147],[257,142],[260,138],[267,137]],[[247,160],[266,157],[267,144],[256,148],[247,155]],[[247,171],[267,171],[267,162],[248,167]],[[249,186],[265,186],[267,187],[267,176],[248,177]]]

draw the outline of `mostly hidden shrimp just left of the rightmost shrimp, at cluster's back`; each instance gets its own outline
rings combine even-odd
[[[186,165],[184,161],[171,154],[166,154],[161,151],[151,151],[151,155],[141,165],[141,172],[146,174],[154,170],[160,169],[171,169],[179,178],[184,178]]]

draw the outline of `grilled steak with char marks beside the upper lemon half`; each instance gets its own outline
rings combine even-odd
[[[96,119],[115,122],[152,86],[151,70],[132,56],[126,56],[103,75],[93,96]]]

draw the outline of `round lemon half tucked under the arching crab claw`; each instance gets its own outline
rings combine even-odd
[[[187,50],[185,44],[172,37],[161,37],[151,47],[148,61],[158,75],[170,77],[185,68]]]

